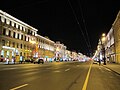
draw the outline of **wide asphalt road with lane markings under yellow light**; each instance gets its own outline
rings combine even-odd
[[[0,90],[120,90],[120,75],[91,62],[0,65]]]

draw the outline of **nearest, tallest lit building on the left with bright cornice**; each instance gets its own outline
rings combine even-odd
[[[31,40],[36,40],[37,29],[0,10],[0,55],[4,59],[31,55]]]

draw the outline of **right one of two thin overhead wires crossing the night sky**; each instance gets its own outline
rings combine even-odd
[[[80,0],[78,0],[78,1],[79,1],[79,6],[80,6],[80,12],[81,12],[81,16],[82,16],[83,25],[84,25],[85,32],[86,32],[86,35],[87,35],[87,40],[88,40],[88,44],[89,44],[89,50],[90,50],[90,53],[91,53],[91,50],[92,50],[91,49],[91,43],[90,43],[88,32],[87,32],[87,27],[86,27],[84,15],[83,15],[83,10],[82,10],[81,4],[80,4]]]

